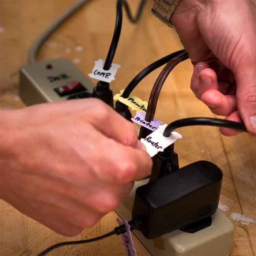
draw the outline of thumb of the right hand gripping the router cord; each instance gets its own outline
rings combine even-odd
[[[256,136],[256,63],[236,75],[237,109],[246,129]]]

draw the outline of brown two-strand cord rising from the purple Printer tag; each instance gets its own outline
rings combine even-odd
[[[145,121],[151,122],[154,119],[158,97],[167,76],[170,74],[173,68],[176,67],[176,65],[178,65],[180,62],[184,60],[187,60],[188,58],[188,53],[184,51],[178,54],[177,56],[173,57],[162,69],[150,93]]]

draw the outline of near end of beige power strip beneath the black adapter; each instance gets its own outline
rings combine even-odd
[[[136,189],[147,184],[137,181],[127,197],[116,209],[122,219],[132,219],[132,208]],[[173,209],[175,211],[175,209]],[[154,239],[147,239],[140,231],[133,233],[153,256],[228,256],[231,252],[234,225],[221,210],[212,215],[212,224],[193,234],[174,230]]]

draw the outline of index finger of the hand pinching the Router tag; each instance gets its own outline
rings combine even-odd
[[[96,106],[96,107],[95,107]],[[138,147],[137,129],[132,122],[126,120],[104,102],[94,104],[93,115],[89,122],[108,138],[131,147]]]

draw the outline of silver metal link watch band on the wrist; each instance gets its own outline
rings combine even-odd
[[[154,0],[151,12],[168,27],[173,27],[170,18],[180,0]]]

